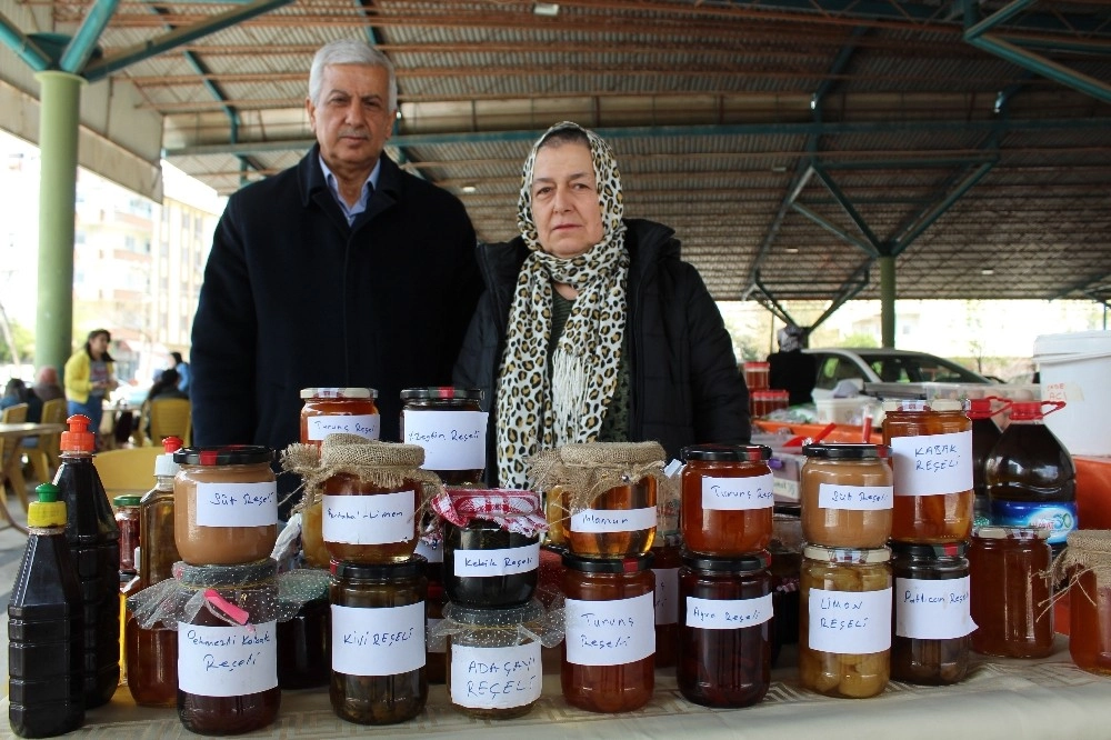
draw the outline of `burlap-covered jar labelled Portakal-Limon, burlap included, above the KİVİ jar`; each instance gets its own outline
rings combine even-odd
[[[421,469],[423,462],[418,444],[358,434],[329,434],[319,454],[311,444],[287,447],[282,468],[304,481],[293,511],[301,512],[310,564],[324,557],[321,550],[329,559],[367,564],[412,557],[421,516],[443,490],[436,473]]]

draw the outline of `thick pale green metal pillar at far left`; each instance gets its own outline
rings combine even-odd
[[[39,301],[34,363],[61,370],[73,347],[73,216],[77,201],[78,112],[84,79],[38,72]]]

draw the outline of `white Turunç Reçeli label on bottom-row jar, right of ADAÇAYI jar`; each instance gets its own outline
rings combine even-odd
[[[575,666],[623,666],[655,652],[651,593],[614,601],[564,600],[567,661]]]

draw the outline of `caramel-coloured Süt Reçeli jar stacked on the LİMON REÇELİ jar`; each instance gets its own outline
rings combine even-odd
[[[894,493],[887,444],[802,448],[802,536],[831,548],[879,548],[891,534]]]

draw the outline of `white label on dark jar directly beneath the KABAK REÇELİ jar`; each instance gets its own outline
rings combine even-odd
[[[949,640],[975,629],[969,577],[947,580],[895,579],[895,634],[918,640]]]

